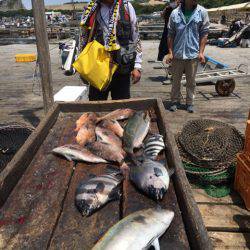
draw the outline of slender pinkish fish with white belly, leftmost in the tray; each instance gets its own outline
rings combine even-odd
[[[85,161],[90,163],[107,163],[103,158],[94,155],[78,144],[68,144],[52,150],[54,154],[65,157],[68,161]]]

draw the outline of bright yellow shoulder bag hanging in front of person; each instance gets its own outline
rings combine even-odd
[[[109,86],[118,65],[112,62],[104,46],[94,40],[87,44],[73,67],[91,86],[103,91]]]

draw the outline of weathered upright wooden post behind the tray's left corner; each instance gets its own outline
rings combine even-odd
[[[54,99],[44,1],[32,0],[32,8],[35,19],[36,44],[42,80],[44,111],[47,113],[52,107]]]

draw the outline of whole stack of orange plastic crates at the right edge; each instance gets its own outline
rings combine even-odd
[[[245,148],[237,155],[235,189],[245,201],[247,209],[250,210],[250,113],[247,121]]]

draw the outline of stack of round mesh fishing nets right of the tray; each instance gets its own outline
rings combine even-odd
[[[210,196],[227,196],[234,180],[236,154],[244,147],[241,133],[222,122],[193,120],[177,134],[176,141],[190,182]]]

